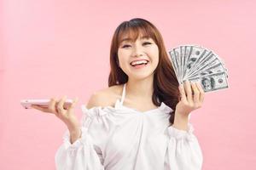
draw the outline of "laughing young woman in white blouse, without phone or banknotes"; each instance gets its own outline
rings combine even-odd
[[[82,105],[81,125],[67,97],[47,109],[67,125],[56,168],[78,170],[201,169],[201,147],[189,123],[200,108],[199,83],[178,85],[160,31],[148,20],[121,23],[110,49],[109,88]]]

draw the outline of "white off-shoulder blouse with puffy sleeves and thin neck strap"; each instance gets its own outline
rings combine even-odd
[[[123,105],[82,105],[82,137],[70,143],[68,130],[55,154],[57,170],[199,170],[201,147],[194,128],[188,131],[169,126],[164,102],[156,109],[137,111]]]

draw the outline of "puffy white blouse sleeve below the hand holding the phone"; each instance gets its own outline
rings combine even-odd
[[[101,131],[97,124],[99,124],[98,118],[95,119],[98,114],[99,107],[93,107],[88,110],[82,105],[82,111],[84,112],[81,126],[81,138],[77,139],[73,144],[70,143],[70,134],[67,130],[63,135],[63,143],[55,153],[55,167],[57,170],[103,170],[103,158],[101,150],[96,145],[90,135],[90,131]],[[101,116],[98,116],[101,117]],[[99,132],[101,133],[101,132]],[[95,138],[96,136],[94,136]],[[99,141],[102,137],[99,136]]]

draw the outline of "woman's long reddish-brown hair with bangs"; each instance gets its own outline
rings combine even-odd
[[[135,18],[122,22],[114,31],[110,48],[110,67],[108,77],[108,87],[124,84],[128,81],[128,76],[118,65],[118,49],[121,38],[128,33],[129,37],[135,41],[139,33],[143,36],[151,37],[159,48],[159,64],[154,71],[154,93],[152,101],[154,105],[160,106],[161,102],[172,108],[169,122],[174,122],[174,113],[179,99],[178,82],[172,63],[166,53],[166,48],[160,31],[148,20]],[[159,99],[159,100],[158,100]]]

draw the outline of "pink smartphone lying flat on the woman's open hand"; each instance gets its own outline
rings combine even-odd
[[[21,99],[20,105],[25,109],[32,109],[31,105],[41,105],[43,107],[48,107],[50,99]],[[64,103],[64,108],[69,108],[73,103],[73,99],[66,99]]]

